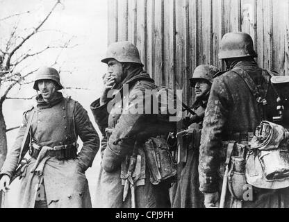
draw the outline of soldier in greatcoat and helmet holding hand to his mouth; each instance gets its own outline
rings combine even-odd
[[[156,115],[145,111],[146,99],[150,97],[144,96],[146,90],[156,89],[154,80],[144,71],[138,49],[130,42],[110,44],[101,62],[108,65],[104,91],[101,98],[91,104],[103,135],[95,206],[170,207],[169,187],[152,185],[149,180],[143,151],[145,137],[140,137],[151,133],[156,123]],[[151,126],[151,130],[146,126]],[[158,128],[165,125],[160,124]],[[134,156],[138,158],[133,160]]]

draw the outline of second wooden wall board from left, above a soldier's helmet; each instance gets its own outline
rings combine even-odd
[[[118,0],[118,41],[128,39],[128,0]]]

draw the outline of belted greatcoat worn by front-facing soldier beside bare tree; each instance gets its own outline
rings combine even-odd
[[[65,104],[74,102],[72,116],[69,116]],[[33,114],[33,119],[29,137],[38,145],[49,147],[65,145],[75,142],[77,136],[83,142],[83,147],[76,159],[58,160],[56,157],[48,157],[42,162],[44,164],[42,176],[48,207],[92,207],[85,171],[91,167],[94,156],[97,154],[99,136],[81,104],[64,98],[60,92],[51,103],[44,102],[39,96],[37,105],[24,113],[22,126],[15,144],[3,164],[1,175],[7,174],[10,178],[13,177],[24,132],[31,114]],[[21,181],[18,207],[30,208],[35,205],[35,188],[40,183],[42,176],[33,173],[31,169],[34,164],[35,158],[31,157],[26,175]]]

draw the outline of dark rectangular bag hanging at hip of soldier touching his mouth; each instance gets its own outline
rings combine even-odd
[[[165,139],[161,137],[150,138],[144,144],[147,166],[150,172],[150,181],[158,185],[164,180],[174,179],[176,164]]]

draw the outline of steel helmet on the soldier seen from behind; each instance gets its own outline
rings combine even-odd
[[[221,41],[219,59],[257,57],[251,36],[247,33],[226,33]]]

